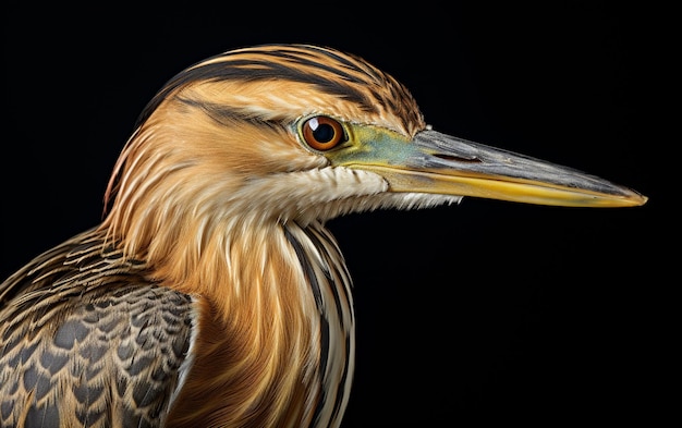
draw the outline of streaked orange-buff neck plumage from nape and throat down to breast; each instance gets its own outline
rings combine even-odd
[[[338,426],[355,340],[350,277],[333,237],[318,220],[249,209],[241,179],[211,175],[198,167],[206,162],[190,158],[166,170],[178,135],[168,143],[170,155],[160,156],[142,144],[151,134],[159,137],[143,129],[126,146],[102,228],[126,257],[153,267],[154,282],[197,304],[191,352],[203,352],[190,355],[169,426]],[[315,171],[336,180],[332,170]],[[264,189],[281,182],[269,180],[260,183]]]

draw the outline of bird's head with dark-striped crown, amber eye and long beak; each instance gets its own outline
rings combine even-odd
[[[333,49],[267,45],[178,74],[141,115],[115,167],[109,224],[150,241],[173,224],[307,224],[463,196],[623,207],[646,197],[608,181],[439,133],[412,95]],[[239,219],[239,220],[236,220]],[[194,231],[196,232],[196,231]]]

